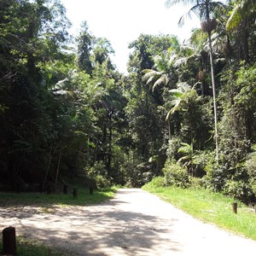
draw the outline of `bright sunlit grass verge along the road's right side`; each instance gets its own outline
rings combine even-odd
[[[238,202],[237,214],[232,210],[232,200],[206,189],[180,189],[177,187],[154,187],[148,183],[143,187],[161,199],[195,218],[256,240],[256,214],[253,208]]]

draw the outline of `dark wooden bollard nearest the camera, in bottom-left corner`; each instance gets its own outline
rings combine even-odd
[[[3,254],[17,254],[16,232],[14,227],[3,229]]]

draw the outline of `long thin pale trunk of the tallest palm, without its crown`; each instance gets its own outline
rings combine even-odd
[[[213,96],[213,109],[214,109],[214,131],[215,131],[214,134],[215,134],[215,145],[216,145],[216,161],[218,163],[218,115],[217,115],[214,67],[213,67],[213,57],[212,57],[211,32],[208,32],[208,40],[209,40],[209,47],[210,47],[210,63],[211,63],[211,75],[212,75],[212,96]]]

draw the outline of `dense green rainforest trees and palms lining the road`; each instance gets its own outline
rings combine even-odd
[[[82,176],[139,187],[166,174],[255,201],[255,3],[198,4],[214,29],[202,24],[186,44],[140,35],[124,75],[86,21],[68,35],[58,0],[0,1],[0,189]]]

